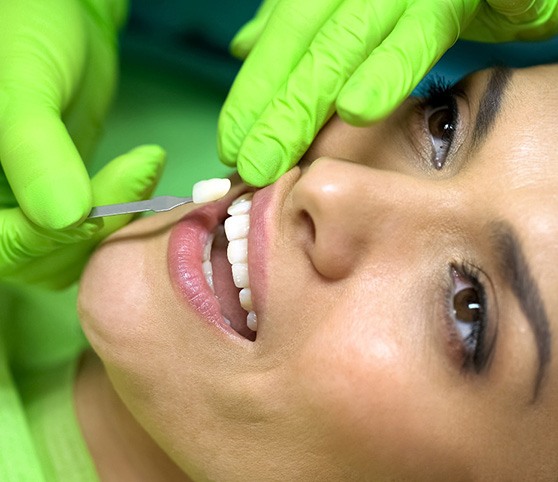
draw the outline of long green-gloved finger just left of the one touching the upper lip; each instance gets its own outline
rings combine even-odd
[[[240,146],[314,36],[343,0],[282,0],[225,100],[218,123],[223,162],[236,164]]]

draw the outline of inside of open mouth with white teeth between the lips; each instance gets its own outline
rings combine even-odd
[[[254,341],[258,329],[252,306],[248,273],[248,233],[252,193],[235,199],[228,217],[208,237],[203,252],[203,272],[221,307],[226,324]]]

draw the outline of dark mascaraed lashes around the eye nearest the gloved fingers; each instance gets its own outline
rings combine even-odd
[[[432,154],[430,162],[439,171],[444,167],[453,143],[459,122],[457,97],[462,95],[462,92],[457,85],[450,84],[444,78],[433,77],[425,81],[421,94],[422,101],[417,105],[419,118],[431,144]],[[450,121],[444,124],[442,128],[444,132],[439,136],[441,140],[440,149],[444,150],[443,156],[440,156],[436,149],[436,141],[430,130],[429,121],[437,112],[443,112],[444,110],[449,113]],[[442,120],[444,119],[442,118]]]

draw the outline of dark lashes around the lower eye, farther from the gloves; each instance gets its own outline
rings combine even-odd
[[[455,273],[455,274],[454,274]],[[446,289],[446,317],[450,333],[451,345],[457,340],[456,351],[463,370],[480,373],[487,365],[492,352],[493,342],[487,343],[487,331],[489,326],[488,300],[484,284],[480,281],[480,269],[467,263],[453,263],[450,265],[448,286]],[[471,285],[478,295],[479,319],[473,323],[459,321],[456,318],[456,307],[454,305],[456,296],[465,291],[456,291],[456,275]],[[469,305],[471,306],[471,305]],[[470,333],[464,336],[459,329],[458,323],[472,325]]]

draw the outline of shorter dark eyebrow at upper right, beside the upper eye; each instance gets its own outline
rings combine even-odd
[[[500,112],[500,106],[506,92],[513,70],[509,67],[498,66],[492,69],[490,78],[482,95],[479,111],[473,129],[473,149],[486,139],[494,127],[494,122]]]

